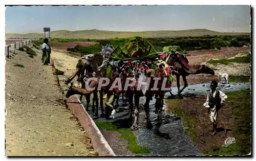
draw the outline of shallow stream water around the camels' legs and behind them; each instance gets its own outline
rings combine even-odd
[[[182,87],[182,86],[181,86]],[[218,88],[222,91],[239,90],[250,88],[250,83],[230,83],[228,85],[219,84]],[[209,83],[189,85],[182,94],[207,95]],[[173,94],[177,94],[177,87],[172,87]],[[168,96],[169,93],[166,93]],[[139,126],[137,131],[137,143],[151,150],[147,155],[201,155],[197,147],[191,143],[190,138],[185,134],[182,121],[172,113],[156,114],[155,98],[150,102],[150,120],[152,129],[146,128],[145,112],[143,106],[140,106]],[[140,105],[145,103],[145,97],[140,98]],[[85,104],[84,104],[85,105]],[[134,107],[135,108],[135,107]],[[99,108],[100,109],[100,108]],[[119,98],[119,111],[114,120],[105,120],[104,118],[93,117],[91,107],[89,114],[94,120],[113,122],[118,128],[130,128],[134,121],[127,115],[129,105],[123,106],[121,97]],[[99,110],[99,116],[101,111]],[[142,124],[141,124],[142,123]]]

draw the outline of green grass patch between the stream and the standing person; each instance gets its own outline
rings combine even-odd
[[[194,129],[199,120],[192,116],[189,112],[186,112],[182,109],[182,104],[179,99],[165,100],[165,102],[168,107],[168,111],[181,118],[184,131],[190,137],[191,141],[199,141],[200,139]]]

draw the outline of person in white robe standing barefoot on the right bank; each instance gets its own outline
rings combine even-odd
[[[223,106],[225,99],[227,98],[227,95],[225,95],[222,91],[219,89],[216,89],[218,86],[217,81],[211,81],[210,83],[210,91],[207,95],[207,100],[204,103],[204,106],[208,108],[208,113],[210,116],[210,120],[212,122],[212,134],[215,135],[217,133],[217,112],[219,109]],[[225,128],[225,127],[224,127]],[[226,133],[226,129],[225,129]]]

